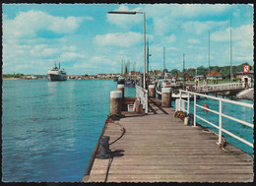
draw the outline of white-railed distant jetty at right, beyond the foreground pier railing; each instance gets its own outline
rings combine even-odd
[[[243,89],[243,83],[229,83],[220,85],[205,85],[205,86],[193,86],[194,92],[214,92],[214,91],[224,91],[224,90],[237,90]]]

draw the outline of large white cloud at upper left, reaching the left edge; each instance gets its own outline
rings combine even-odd
[[[3,20],[5,37],[33,37],[37,31],[53,31],[56,33],[72,33],[76,31],[85,18],[54,17],[46,12],[20,12],[14,20]]]

